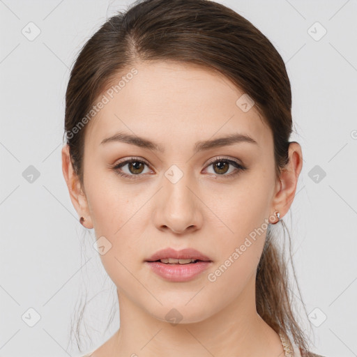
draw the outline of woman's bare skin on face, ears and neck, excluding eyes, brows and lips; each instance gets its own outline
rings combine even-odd
[[[73,172],[68,146],[62,151],[63,175],[78,215],[97,238],[105,236],[112,244],[100,259],[117,287],[121,326],[92,356],[284,356],[279,335],[255,305],[266,231],[214,282],[208,274],[252,231],[274,222],[275,210],[280,218],[289,211],[302,168],[301,146],[290,144],[289,165],[277,177],[271,130],[254,106],[243,112],[236,105],[243,92],[227,78],[183,63],[139,62],[135,68],[137,75],[87,124],[84,187]],[[119,131],[165,151],[100,144]],[[193,151],[196,142],[238,132],[257,144]],[[149,163],[139,174],[128,164],[121,167],[134,179],[110,167],[133,156]],[[229,164],[222,173],[222,166],[210,163],[215,158],[236,160],[247,169]],[[183,173],[176,183],[165,176],[172,165]],[[195,248],[213,264],[193,280],[169,282],[144,264],[168,247]],[[179,324],[165,318],[172,308],[181,314]]]

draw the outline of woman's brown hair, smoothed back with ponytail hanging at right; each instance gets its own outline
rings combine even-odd
[[[82,48],[70,73],[65,130],[82,184],[86,126],[74,129],[119,73],[137,61],[149,60],[203,66],[225,75],[248,93],[273,132],[275,171],[280,175],[289,162],[291,88],[284,61],[272,43],[251,22],[214,1],[141,0],[100,27]],[[257,312],[274,331],[290,335],[305,356],[308,340],[294,318],[282,250],[274,243],[269,226],[257,268]],[[293,272],[296,280],[294,266]]]

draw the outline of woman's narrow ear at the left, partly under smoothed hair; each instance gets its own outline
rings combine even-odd
[[[83,222],[84,227],[93,228],[88,201],[79,178],[73,169],[73,164],[70,160],[70,148],[68,145],[63,146],[62,148],[62,172],[70,193],[70,200],[79,217],[83,216],[85,218]]]

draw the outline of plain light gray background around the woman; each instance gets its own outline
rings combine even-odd
[[[311,331],[313,350],[357,356],[357,2],[220,2],[255,24],[287,64],[298,132],[291,140],[303,147],[304,162],[284,220],[307,312],[319,325]],[[108,16],[129,3],[0,1],[0,356],[77,356],[70,321],[85,290],[93,342],[87,340],[87,349],[119,327],[116,312],[105,331],[112,305],[117,308],[114,286],[91,246],[93,231],[79,224],[70,202],[61,146],[75,56]],[[29,22],[41,31],[32,41],[22,34]],[[324,37],[315,22],[326,29]],[[32,183],[22,175],[29,165],[40,173]],[[317,180],[314,170],[326,176]],[[29,308],[40,315],[33,327],[28,323],[36,313]]]

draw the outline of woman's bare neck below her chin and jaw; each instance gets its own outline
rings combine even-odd
[[[189,324],[160,321],[123,291],[118,298],[121,327],[107,342],[109,356],[284,356],[278,333],[257,314],[255,276],[230,305]]]

